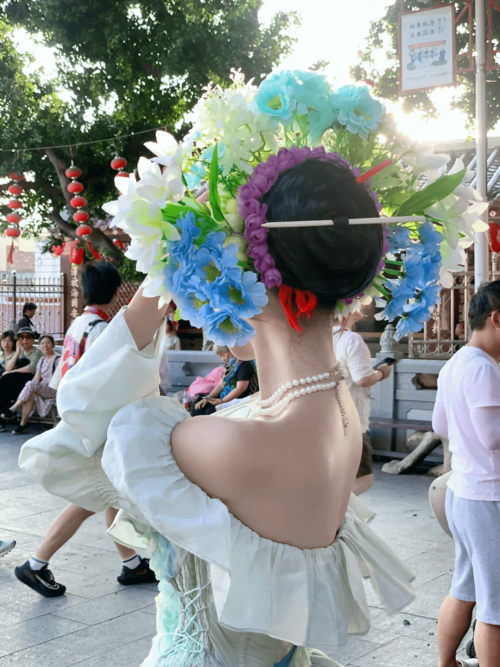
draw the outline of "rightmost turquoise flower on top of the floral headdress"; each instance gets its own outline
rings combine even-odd
[[[343,86],[335,95],[335,104],[339,108],[337,121],[363,139],[377,130],[384,113],[384,107],[373,99],[367,86]]]

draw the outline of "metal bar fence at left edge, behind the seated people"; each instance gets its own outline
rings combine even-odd
[[[27,301],[36,304],[35,329],[64,336],[64,274],[0,273],[0,332],[18,321]]]

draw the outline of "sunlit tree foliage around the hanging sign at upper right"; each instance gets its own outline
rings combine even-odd
[[[405,0],[405,11],[428,9],[434,2],[423,0]],[[463,9],[464,0],[454,2],[456,15]],[[385,10],[384,16],[371,24],[370,33],[365,48],[360,52],[360,63],[351,68],[351,75],[358,81],[363,79],[375,83],[375,93],[391,100],[398,99],[399,57],[398,57],[398,15],[401,9],[400,0],[394,0]],[[457,52],[463,53],[467,49],[469,39],[468,25],[461,24],[457,29]],[[493,39],[495,48],[500,43],[500,13],[493,13]],[[387,59],[384,58],[387,56]],[[382,63],[382,64],[381,64]],[[459,61],[459,67],[468,66],[468,59]],[[472,126],[475,117],[474,72],[466,72],[458,76],[459,84],[463,85],[463,92],[458,91],[453,106],[461,109],[468,117]],[[500,108],[500,71],[492,70],[487,73],[487,104],[488,127],[493,128],[498,122]],[[429,93],[419,92],[405,95],[403,110],[407,113],[420,111],[424,116],[435,117],[438,113]]]

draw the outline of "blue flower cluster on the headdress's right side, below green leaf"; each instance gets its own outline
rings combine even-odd
[[[439,292],[440,245],[442,235],[431,222],[424,222],[419,230],[420,239],[414,242],[406,227],[398,227],[389,236],[391,252],[406,251],[403,259],[404,277],[386,283],[391,292],[384,315],[389,321],[400,317],[396,339],[411,332],[421,331],[430,313],[441,300]],[[411,303],[408,303],[409,300]]]

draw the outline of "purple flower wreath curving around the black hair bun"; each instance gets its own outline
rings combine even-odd
[[[248,183],[238,188],[239,212],[245,220],[245,239],[250,244],[248,254],[252,257],[255,268],[268,289],[279,287],[282,278],[269,254],[267,246],[269,230],[262,226],[266,222],[267,205],[261,204],[260,199],[266,192],[269,192],[282,171],[296,167],[312,158],[335,160],[348,167],[356,178],[361,175],[361,171],[353,167],[348,160],[341,158],[338,153],[327,153],[323,146],[316,148],[292,146],[291,148],[280,148],[276,155],[270,155],[266,162],[258,164],[248,179]],[[377,210],[380,211],[382,205],[378,201],[377,193],[372,190],[369,192]]]

